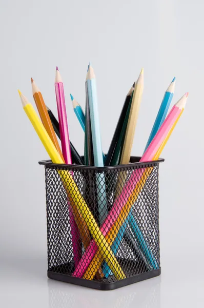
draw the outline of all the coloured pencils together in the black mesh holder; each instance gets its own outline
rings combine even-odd
[[[158,268],[155,256],[133,215],[134,204],[148,179],[146,169],[133,170],[129,178],[123,171],[117,178],[110,178],[104,171],[109,166],[130,163],[144,88],[144,70],[141,70],[137,81],[126,95],[109,150],[105,155],[101,146],[96,78],[93,67],[89,64],[85,82],[85,112],[70,94],[74,112],[85,132],[84,158],[78,154],[69,139],[64,85],[58,68],[55,75],[58,120],[46,106],[43,95],[32,78],[31,83],[41,121],[24,94],[19,91],[19,95],[23,108],[52,162],[69,166],[77,164],[90,168],[104,167],[100,172],[95,172],[94,179],[91,174],[84,177],[84,194],[75,183],[73,171],[62,172],[58,169],[58,176],[67,193],[74,260],[72,276],[92,280],[95,277],[108,278],[114,274],[118,280],[126,278],[116,254],[122,240],[125,240],[127,245],[132,245],[132,251],[135,250],[136,254],[138,247],[135,247],[133,237],[139,243],[140,253],[146,260],[148,269]],[[185,108],[188,93],[181,97],[167,115],[174,88],[175,78],[165,92],[140,162],[158,160]],[[149,168],[149,174],[151,171],[152,168]]]

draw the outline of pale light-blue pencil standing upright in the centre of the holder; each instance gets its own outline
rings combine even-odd
[[[95,80],[95,74],[94,74],[93,68],[90,64],[89,64],[86,81],[87,81],[88,96],[89,96],[94,165],[96,167],[103,167],[104,160],[103,160],[103,150],[102,150],[101,139],[100,139],[96,80]],[[106,198],[106,183],[105,183],[104,172],[100,172],[96,174],[96,186],[97,186],[99,222],[101,225],[103,224],[108,214],[107,198]]]

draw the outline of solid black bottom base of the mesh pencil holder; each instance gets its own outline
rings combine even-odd
[[[63,282],[68,282],[76,285],[86,286],[90,288],[94,288],[96,290],[101,291],[109,291],[109,290],[115,290],[116,288],[123,287],[129,284],[133,284],[142,280],[147,280],[156,276],[159,276],[161,274],[161,268],[154,269],[153,271],[149,271],[146,273],[138,274],[133,277],[129,277],[126,279],[121,279],[115,282],[110,282],[109,279],[103,279],[103,282],[100,281],[93,281],[93,280],[87,280],[87,279],[80,279],[72,276],[68,276],[66,274],[60,274],[60,267],[62,268],[71,268],[72,264],[67,263],[60,266],[55,266],[54,268],[51,268],[50,271],[48,270],[48,278],[53,280],[59,280]],[[56,273],[58,272],[58,273]],[[113,281],[113,277],[110,277],[111,281]]]

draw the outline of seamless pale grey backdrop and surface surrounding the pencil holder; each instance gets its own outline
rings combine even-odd
[[[1,301],[5,307],[200,307],[203,302],[203,3],[200,0],[1,0]],[[157,110],[176,76],[175,103],[186,110],[160,165],[162,275],[107,292],[47,281],[44,168],[48,159],[22,109],[33,103],[30,77],[56,113],[58,65],[70,139],[84,134],[69,97],[85,107],[91,61],[97,78],[101,138],[108,150],[131,84],[144,67],[145,88],[133,155],[141,155]]]

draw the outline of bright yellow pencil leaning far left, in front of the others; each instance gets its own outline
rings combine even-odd
[[[35,131],[38,134],[38,137],[42,141],[45,149],[48,152],[48,155],[50,156],[53,163],[56,164],[63,164],[63,160],[60,157],[58,151],[56,150],[52,140],[50,139],[45,127],[43,126],[42,122],[39,120],[37,113],[35,112],[33,106],[28,102],[26,97],[21,93],[21,91],[18,91],[23,108],[32,123]],[[110,245],[108,244],[107,240],[103,236],[103,234],[100,231],[100,228],[98,227],[88,205],[86,204],[83,196],[81,196],[76,183],[74,182],[71,172],[63,170],[62,172],[59,170],[59,176],[61,177],[63,184],[68,189],[69,194],[74,202],[74,204],[77,207],[77,210],[79,213],[83,216],[84,220],[86,221],[86,224],[90,230],[90,233],[95,240],[101,256],[106,260],[107,264],[111,268],[112,272],[114,273],[117,280],[126,278],[125,273],[123,272],[123,269],[121,269],[117,259],[115,258]]]

